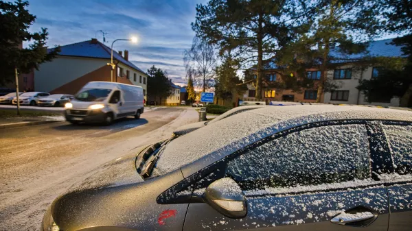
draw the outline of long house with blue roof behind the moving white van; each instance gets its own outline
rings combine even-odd
[[[111,81],[111,49],[92,38],[61,47],[57,58],[34,71],[34,88],[52,94],[76,94],[91,81]],[[147,95],[146,73],[128,60],[128,51],[113,51],[113,82],[141,86]]]

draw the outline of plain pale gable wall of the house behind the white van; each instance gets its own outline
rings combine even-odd
[[[110,60],[58,56],[52,62],[45,62],[34,71],[34,89],[49,92],[95,71]]]

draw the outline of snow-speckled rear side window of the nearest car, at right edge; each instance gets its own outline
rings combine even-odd
[[[412,173],[412,125],[382,125],[396,173]]]

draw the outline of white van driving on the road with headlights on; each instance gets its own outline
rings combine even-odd
[[[65,105],[70,123],[111,124],[122,117],[140,118],[144,112],[141,86],[113,82],[89,82]]]

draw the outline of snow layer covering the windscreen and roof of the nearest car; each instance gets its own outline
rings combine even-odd
[[[306,123],[345,119],[412,121],[412,112],[334,105],[268,106],[249,110],[176,138],[164,149],[157,169],[166,173],[196,162],[196,169],[182,168],[187,177],[276,132]]]

